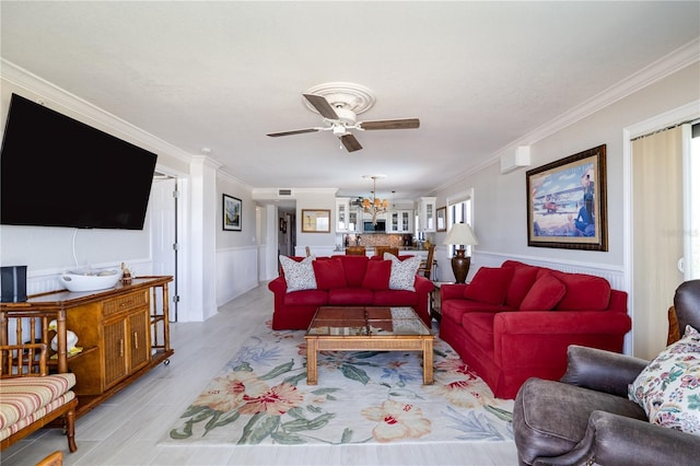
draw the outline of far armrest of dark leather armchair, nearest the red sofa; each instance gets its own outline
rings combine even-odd
[[[567,372],[560,382],[627,398],[627,386],[649,361],[572,345],[567,351]]]

